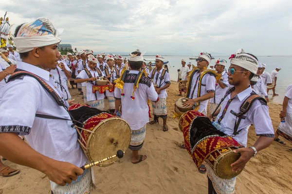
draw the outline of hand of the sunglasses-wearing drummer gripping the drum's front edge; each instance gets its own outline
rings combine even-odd
[[[236,162],[231,164],[232,171],[235,171],[235,172],[243,169],[245,164],[253,157],[255,153],[255,151],[252,148],[245,148],[245,147],[235,149],[233,151],[234,153],[240,154],[240,158]]]

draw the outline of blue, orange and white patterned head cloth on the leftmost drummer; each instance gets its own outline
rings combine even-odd
[[[23,24],[14,37],[14,42],[19,53],[33,50],[37,47],[45,47],[61,42],[59,35],[64,29],[55,29],[53,24],[45,17],[39,17],[36,21]]]

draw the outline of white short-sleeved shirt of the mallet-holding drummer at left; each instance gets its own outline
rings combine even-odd
[[[64,101],[50,72],[23,62],[18,68],[34,73],[45,81]],[[64,101],[68,107],[67,101]],[[77,143],[76,129],[72,121],[36,117],[36,113],[71,119],[64,107],[33,77],[24,76],[8,82],[0,99],[0,132],[26,135],[25,139],[37,152],[57,161],[70,162],[76,166],[86,163],[87,157]]]

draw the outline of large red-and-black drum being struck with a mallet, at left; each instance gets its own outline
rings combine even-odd
[[[83,123],[82,127],[78,127],[80,124],[76,127],[80,136],[78,142],[91,162],[115,155],[117,150],[126,152],[128,149],[131,130],[125,120],[85,106],[75,108],[70,113]],[[117,160],[115,157],[98,165],[109,166]]]

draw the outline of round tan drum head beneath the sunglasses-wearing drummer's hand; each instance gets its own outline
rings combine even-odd
[[[214,172],[219,178],[231,179],[239,175],[243,169],[240,171],[232,171],[230,166],[232,163],[236,162],[240,157],[239,153],[228,152],[218,161],[218,164],[214,166]]]

